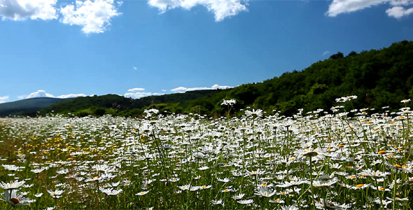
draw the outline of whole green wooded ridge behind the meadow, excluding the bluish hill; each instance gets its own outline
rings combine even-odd
[[[413,41],[393,43],[388,48],[344,55],[337,52],[329,59],[311,64],[303,71],[290,71],[262,83],[240,85],[230,90],[201,90],[180,94],[127,99],[117,95],[80,97],[57,102],[41,113],[54,110],[75,116],[113,114],[141,116],[145,109],[166,113],[200,113],[226,116],[223,99],[236,99],[230,114],[240,109],[280,111],[285,116],[298,109],[329,111],[335,99],[357,95],[355,107],[381,109],[400,107],[400,101],[413,96]],[[235,112],[233,112],[235,111]]]

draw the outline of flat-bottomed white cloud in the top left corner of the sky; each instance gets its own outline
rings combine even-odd
[[[57,0],[0,0],[2,20],[53,20],[57,19]]]

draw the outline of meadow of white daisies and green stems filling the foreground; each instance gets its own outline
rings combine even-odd
[[[356,99],[293,117],[0,118],[0,209],[412,209],[410,99]]]

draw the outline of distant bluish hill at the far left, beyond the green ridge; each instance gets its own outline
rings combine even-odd
[[[16,102],[7,102],[0,104],[0,117],[5,116],[35,116],[37,111],[45,106],[50,106],[55,102],[64,99],[38,97],[32,99],[23,99]]]

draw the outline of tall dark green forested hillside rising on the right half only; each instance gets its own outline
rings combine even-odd
[[[338,52],[303,71],[286,72],[262,83],[241,85],[211,98],[197,99],[191,107],[223,113],[226,109],[218,103],[225,98],[237,99],[237,109],[251,106],[291,115],[301,108],[328,111],[336,105],[336,98],[357,95],[355,107],[398,108],[400,100],[413,96],[412,85],[413,42],[402,41],[382,50],[351,52],[346,56]]]

